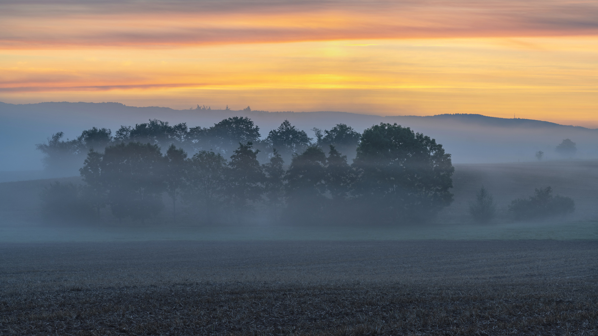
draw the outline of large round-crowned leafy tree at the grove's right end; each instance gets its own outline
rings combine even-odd
[[[453,201],[450,154],[408,127],[380,123],[366,129],[353,166],[360,172],[357,195],[374,211],[370,215],[421,220]]]

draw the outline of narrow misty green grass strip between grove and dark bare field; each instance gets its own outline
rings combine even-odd
[[[289,225],[123,225],[0,226],[0,243],[11,242],[147,242],[149,240],[598,240],[598,221],[503,224],[421,224],[398,227]]]

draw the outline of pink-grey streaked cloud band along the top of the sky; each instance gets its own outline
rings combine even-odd
[[[595,1],[2,1],[2,8],[4,48],[598,33]]]

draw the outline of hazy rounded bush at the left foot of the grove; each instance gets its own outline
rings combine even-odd
[[[81,188],[72,183],[50,184],[40,195],[43,215],[47,219],[66,221],[91,218],[93,209],[80,194]]]

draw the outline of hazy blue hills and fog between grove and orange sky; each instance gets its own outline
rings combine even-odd
[[[392,116],[353,114],[347,112],[266,112],[225,111],[216,109],[175,110],[160,107],[133,107],[120,103],[49,102],[27,105],[0,103],[0,181],[57,177],[41,172],[17,173],[42,169],[42,154],[35,150],[48,136],[64,132],[74,139],[90,127],[106,127],[113,132],[123,125],[159,119],[170,124],[210,127],[224,118],[249,117],[260,127],[264,138],[282,121],[289,120],[298,129],[314,137],[313,127],[331,129],[344,123],[362,132],[373,124],[398,123],[422,132],[441,143],[452,155],[453,163],[501,163],[535,161],[535,152],[544,152],[544,160],[558,160],[554,148],[563,139],[577,144],[573,158],[598,158],[598,130],[563,126],[546,121],[505,119],[483,115]],[[350,153],[343,153],[350,155]],[[11,172],[11,173],[8,173]]]

